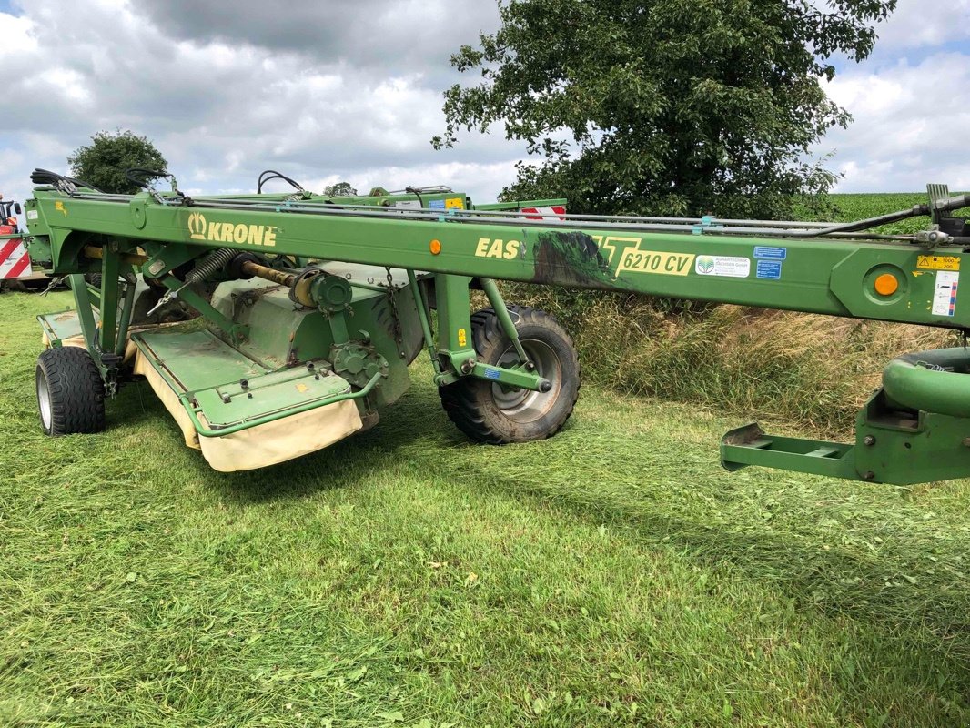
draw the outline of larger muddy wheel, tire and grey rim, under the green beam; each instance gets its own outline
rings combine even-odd
[[[579,396],[579,359],[566,329],[537,309],[508,308],[522,347],[538,374],[552,382],[549,392],[505,391],[498,384],[465,377],[440,387],[441,404],[458,429],[489,445],[543,440],[559,432]],[[471,316],[472,346],[491,365],[517,362],[512,342],[492,309]]]

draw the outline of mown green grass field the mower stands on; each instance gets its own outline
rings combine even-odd
[[[420,360],[373,430],[218,474],[144,383],[41,435],[67,304],[0,295],[0,725],[970,721],[970,481],[729,475],[739,419],[593,386],[472,446]]]

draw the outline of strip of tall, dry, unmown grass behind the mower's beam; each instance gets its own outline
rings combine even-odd
[[[924,202],[919,193],[845,194],[832,195],[829,205],[834,219],[857,220]],[[879,232],[912,233],[928,223],[904,220]],[[520,284],[505,292],[566,323],[589,381],[747,417],[782,417],[828,436],[848,434],[889,359],[958,342],[947,331],[878,321]]]

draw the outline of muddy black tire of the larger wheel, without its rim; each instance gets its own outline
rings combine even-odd
[[[441,404],[451,421],[472,440],[488,445],[552,437],[566,424],[579,397],[579,358],[566,329],[553,316],[538,309],[509,306],[508,310],[523,345],[528,347],[528,342],[535,341],[549,347],[558,360],[562,377],[554,379],[548,373],[540,372],[553,381],[555,399],[544,414],[525,422],[516,421],[501,411],[495,402],[491,381],[464,377],[439,387]],[[497,364],[512,346],[492,309],[483,309],[471,316],[471,341],[478,360],[491,365]]]

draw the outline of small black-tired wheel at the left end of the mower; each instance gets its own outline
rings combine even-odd
[[[105,384],[80,347],[57,347],[37,360],[37,404],[46,435],[105,429]]]

